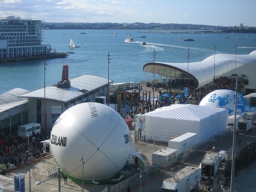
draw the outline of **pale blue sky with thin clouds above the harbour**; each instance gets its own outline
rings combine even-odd
[[[255,0],[0,0],[1,17],[45,22],[176,23],[256,27]]]

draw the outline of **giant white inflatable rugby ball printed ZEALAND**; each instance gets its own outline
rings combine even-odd
[[[108,179],[127,162],[132,147],[131,133],[114,109],[86,102],[61,114],[52,128],[50,147],[58,166],[67,175]]]

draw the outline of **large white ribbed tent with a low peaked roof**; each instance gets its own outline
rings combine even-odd
[[[168,142],[173,138],[195,132],[201,145],[227,129],[228,110],[193,104],[172,104],[143,115],[143,131],[155,141]]]

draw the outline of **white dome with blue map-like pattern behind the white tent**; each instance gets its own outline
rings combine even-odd
[[[234,109],[236,104],[236,92],[232,90],[215,90],[202,99],[200,106],[209,106],[213,108],[225,108],[228,109],[228,115],[234,115]],[[237,115],[248,111],[250,108],[248,103],[242,95],[237,93]]]

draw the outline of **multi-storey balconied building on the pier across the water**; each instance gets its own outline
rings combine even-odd
[[[20,19],[15,16],[1,18],[0,62],[51,55],[51,44],[42,44],[42,36],[41,20]]]

